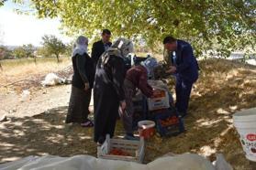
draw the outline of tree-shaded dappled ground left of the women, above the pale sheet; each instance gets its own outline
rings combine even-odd
[[[67,107],[61,107],[0,124],[0,161],[28,155],[96,155],[93,129],[65,124],[66,112]]]

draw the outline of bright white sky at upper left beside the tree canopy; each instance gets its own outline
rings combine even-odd
[[[58,19],[39,19],[36,16],[17,15],[14,9],[17,5],[7,1],[0,7],[0,45],[22,46],[32,44],[41,46],[41,37],[54,35],[64,43],[71,37],[61,35],[61,22]]]

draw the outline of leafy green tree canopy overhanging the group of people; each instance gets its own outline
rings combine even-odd
[[[16,0],[15,2],[22,2]],[[142,38],[155,47],[166,35],[190,41],[196,52],[254,48],[254,0],[31,0],[39,17],[59,17],[69,35]],[[217,46],[216,46],[217,45]]]

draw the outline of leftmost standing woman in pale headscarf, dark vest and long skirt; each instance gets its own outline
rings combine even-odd
[[[88,38],[76,39],[72,50],[72,92],[66,123],[78,122],[83,127],[92,127],[88,119],[89,104],[94,85],[95,69],[92,58],[87,54]]]

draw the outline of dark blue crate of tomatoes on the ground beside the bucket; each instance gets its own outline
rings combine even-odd
[[[170,122],[167,120],[173,118]],[[184,133],[184,122],[181,116],[178,115],[174,110],[166,110],[161,113],[154,115],[154,120],[156,122],[157,132],[161,136],[175,136],[180,133]],[[168,122],[163,124],[163,122]]]

